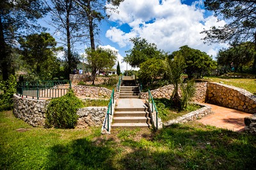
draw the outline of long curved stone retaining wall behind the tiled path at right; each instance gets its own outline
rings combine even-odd
[[[252,93],[221,83],[207,83],[207,103],[217,104],[245,111],[247,113],[256,113],[256,96]]]

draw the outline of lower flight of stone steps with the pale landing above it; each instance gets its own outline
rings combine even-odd
[[[135,101],[138,100],[138,101]],[[150,117],[148,107],[141,101],[141,99],[121,99],[119,102],[132,105],[137,103],[136,107],[116,107],[113,124],[111,128],[136,128],[136,127],[150,127]],[[140,102],[142,104],[140,104]],[[141,106],[138,106],[140,104]],[[122,105],[122,104],[121,104]]]

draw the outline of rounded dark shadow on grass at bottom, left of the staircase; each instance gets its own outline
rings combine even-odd
[[[115,169],[111,165],[113,154],[113,149],[107,146],[96,146],[86,138],[77,139],[53,146],[47,169]]]

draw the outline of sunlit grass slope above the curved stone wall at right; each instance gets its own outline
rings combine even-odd
[[[235,77],[242,76],[243,78]],[[214,81],[217,83],[225,83],[226,85],[233,85],[248,90],[256,95],[256,78],[255,75],[250,74],[229,74],[229,76],[209,76],[204,78],[207,81]]]

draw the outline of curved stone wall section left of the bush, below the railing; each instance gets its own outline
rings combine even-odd
[[[45,125],[45,111],[49,101],[13,96],[13,115],[33,127]]]

